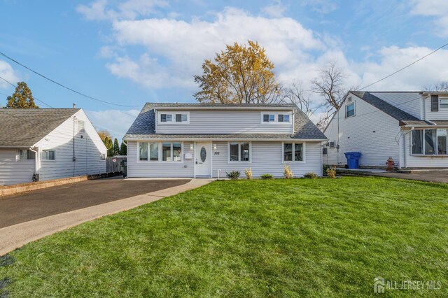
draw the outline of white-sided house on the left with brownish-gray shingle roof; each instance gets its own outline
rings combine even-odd
[[[82,109],[0,109],[0,185],[104,173],[106,153]]]

